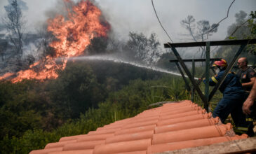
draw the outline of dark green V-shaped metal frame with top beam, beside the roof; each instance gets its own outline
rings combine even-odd
[[[238,59],[239,55],[241,54],[241,52],[243,51],[245,46],[248,44],[254,44],[254,43],[256,43],[256,39],[231,40],[231,41],[189,42],[189,43],[165,43],[164,47],[171,48],[173,50],[173,53],[174,53],[175,57],[177,58],[177,62],[180,63],[180,65],[182,66],[182,69],[184,70],[185,73],[187,73],[187,76],[192,83],[192,86],[193,86],[192,91],[193,91],[193,89],[196,90],[199,97],[203,101],[204,109],[206,109],[206,111],[208,111],[208,106],[209,106],[210,100],[213,98],[215,92],[220,88],[220,85],[222,85],[224,79],[227,77],[227,74],[234,66],[236,60]],[[224,71],[224,76],[222,76],[222,78],[219,80],[219,82],[213,88],[212,92],[210,92],[210,94],[209,94],[209,80],[210,80],[209,72],[210,72],[210,65],[211,65],[210,64],[210,46],[215,46],[215,45],[241,45],[241,47],[236,52],[236,55],[234,55],[234,58],[232,59],[232,61],[229,63],[226,71]],[[194,76],[191,75],[189,69],[187,69],[186,64],[184,64],[184,60],[182,60],[182,58],[180,57],[180,54],[176,50],[176,48],[180,48],[180,47],[198,47],[198,46],[206,46],[206,59],[205,59],[206,73],[204,73],[206,76],[205,94],[203,94],[203,92],[199,88],[198,84],[194,80]],[[195,60],[193,61],[193,63],[194,62],[195,62]],[[193,66],[192,66],[192,69],[193,69]],[[183,73],[181,71],[181,69],[179,69],[179,70],[181,73]],[[193,71],[194,71],[194,69],[193,69]],[[194,72],[193,72],[193,74],[194,74]],[[200,82],[199,82],[199,84],[200,84]],[[193,99],[194,99],[194,97],[193,97]]]

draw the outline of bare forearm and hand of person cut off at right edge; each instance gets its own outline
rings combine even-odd
[[[243,103],[243,113],[247,115],[251,113],[250,107],[253,105],[255,99],[256,99],[256,82],[254,82],[248,98]]]

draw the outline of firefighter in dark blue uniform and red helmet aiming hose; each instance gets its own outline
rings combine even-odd
[[[210,86],[216,85],[220,78],[222,78],[227,68],[227,62],[224,59],[215,61],[213,66],[215,67],[217,75],[210,78]],[[223,93],[223,97],[213,111],[213,117],[219,117],[222,123],[224,123],[229,114],[231,114],[236,125],[234,128],[235,132],[238,134],[246,133],[248,136],[252,137],[254,135],[253,130],[248,130],[249,123],[246,122],[245,114],[243,114],[242,111],[246,94],[238,76],[234,73],[228,73],[219,90]]]

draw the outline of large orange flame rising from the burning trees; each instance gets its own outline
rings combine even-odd
[[[74,4],[72,1],[65,0],[65,3]],[[68,17],[62,15],[56,16],[54,19],[48,20],[48,31],[52,32],[58,41],[50,43],[50,47],[54,48],[55,57],[47,56],[29,66],[25,71],[18,73],[6,73],[0,76],[9,78],[16,75],[12,79],[13,83],[22,79],[45,80],[48,78],[58,78],[59,69],[65,69],[66,59],[62,59],[58,64],[55,59],[58,57],[74,57],[82,55],[86,47],[90,44],[90,40],[94,37],[107,36],[110,26],[107,22],[101,20],[101,11],[89,0],[81,0],[76,6],[68,11]],[[61,59],[61,58],[60,58]],[[39,68],[39,71],[35,71]]]

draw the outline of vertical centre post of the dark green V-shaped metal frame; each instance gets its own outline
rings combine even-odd
[[[210,77],[210,42],[206,42],[206,87],[205,87],[205,97],[206,102],[203,104],[204,109],[208,112],[208,96],[209,96],[209,77]]]

